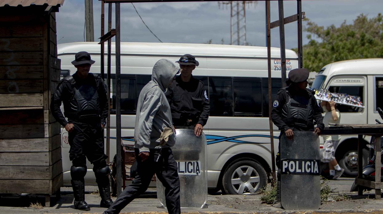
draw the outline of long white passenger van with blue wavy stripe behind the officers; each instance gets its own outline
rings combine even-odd
[[[112,43],[112,53],[114,53]],[[106,46],[105,46],[106,50]],[[87,51],[96,61],[93,73],[100,73],[100,45],[75,42],[58,45],[61,69],[74,74],[70,63],[79,51]],[[205,83],[210,100],[210,116],[204,127],[208,140],[208,187],[223,188],[230,194],[247,194],[262,188],[271,176],[268,122],[267,48],[212,44],[121,43],[121,132],[133,136],[137,98],[151,80],[152,67],[159,59],[175,63],[183,54],[192,54],[200,65],[193,77]],[[271,49],[273,95],[281,88],[280,49]],[[106,64],[106,56],[105,56]],[[178,64],[175,63],[177,66]],[[298,56],[286,50],[286,69],[298,67]],[[115,57],[112,55],[111,138],[115,129]],[[106,66],[105,66],[106,72]],[[274,127],[278,136],[277,127]],[[278,137],[274,137],[278,148]],[[64,183],[69,185],[70,161],[67,133],[62,132]],[[133,144],[133,139],[124,139]],[[277,151],[275,151],[277,152]],[[110,157],[116,154],[111,140]],[[92,167],[85,178],[92,179]],[[94,180],[94,178],[93,178]]]

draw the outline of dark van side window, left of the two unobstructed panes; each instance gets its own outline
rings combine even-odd
[[[209,77],[210,116],[233,116],[232,77]]]

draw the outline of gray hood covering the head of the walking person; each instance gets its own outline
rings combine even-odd
[[[158,60],[152,72],[152,81],[157,83],[162,90],[166,90],[170,81],[180,70],[172,61],[167,59]]]

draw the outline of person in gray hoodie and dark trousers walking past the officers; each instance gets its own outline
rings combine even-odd
[[[165,91],[179,72],[171,61],[161,59],[155,63],[152,80],[142,88],[138,97],[134,147],[136,177],[104,213],[119,213],[134,198],[144,193],[155,173],[165,187],[165,199],[170,214],[180,214],[180,179],[177,163],[172,154],[175,144],[172,114]]]

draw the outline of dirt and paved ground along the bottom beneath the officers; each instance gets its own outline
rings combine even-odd
[[[353,178],[340,178],[336,181],[329,181],[329,186],[333,191],[329,198],[333,199],[339,195],[346,195],[349,199],[343,201],[328,201],[322,203],[317,210],[292,210],[287,211],[272,207],[270,204],[261,203],[260,194],[252,195],[223,195],[220,192],[208,195],[206,206],[203,209],[182,209],[182,213],[188,214],[227,214],[227,213],[383,213],[383,199],[375,200],[374,191],[364,192],[363,196],[358,196],[357,192],[350,192]],[[44,206],[43,197],[21,196],[21,197],[1,197],[0,213],[18,214],[39,214],[39,213],[102,213],[105,208],[100,208],[100,196],[97,194],[97,186],[86,186],[85,199],[90,205],[90,211],[78,211],[73,208],[73,192],[70,187],[61,188],[61,198],[56,200],[52,197],[52,207],[36,207],[32,204],[41,203]],[[115,198],[112,198],[115,200]],[[157,200],[155,188],[148,189],[145,194],[134,199],[126,206],[121,213],[129,214],[149,214],[167,213],[167,210],[160,207]]]

